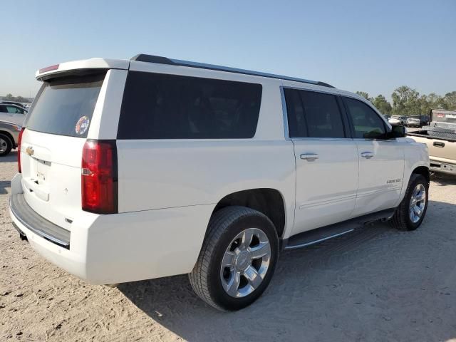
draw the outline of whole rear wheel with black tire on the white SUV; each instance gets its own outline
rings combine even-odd
[[[242,237],[236,239],[239,234]],[[243,243],[244,237],[249,234],[253,234],[252,242]],[[266,239],[269,256],[250,259],[254,253],[260,255],[267,252]],[[230,257],[232,254],[233,259]],[[225,207],[212,214],[209,220],[197,263],[189,274],[190,284],[199,298],[215,309],[239,310],[252,304],[264,292],[274,274],[278,256],[279,238],[274,224],[266,215],[247,207]],[[228,259],[232,262],[226,262]],[[231,266],[222,267],[222,263]]]

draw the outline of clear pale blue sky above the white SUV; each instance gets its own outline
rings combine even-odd
[[[0,0],[0,96],[38,68],[138,53],[276,73],[344,90],[456,90],[456,0]]]

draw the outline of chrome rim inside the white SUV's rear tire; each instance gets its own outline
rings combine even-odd
[[[252,294],[266,276],[270,259],[271,245],[262,230],[248,228],[237,234],[225,251],[220,267],[224,290],[237,298]]]

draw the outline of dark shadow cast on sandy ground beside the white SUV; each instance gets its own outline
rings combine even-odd
[[[242,311],[204,304],[186,275],[118,289],[188,341],[446,341],[456,331],[456,205],[428,208],[414,232],[378,223],[282,253],[269,288]]]

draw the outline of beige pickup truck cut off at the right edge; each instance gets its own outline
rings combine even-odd
[[[431,110],[430,125],[407,135],[427,145],[430,170],[456,175],[456,110]]]

